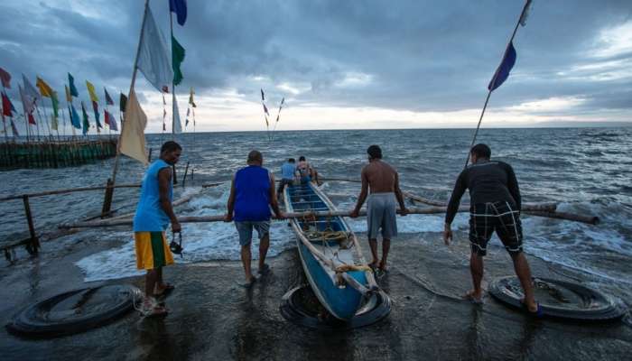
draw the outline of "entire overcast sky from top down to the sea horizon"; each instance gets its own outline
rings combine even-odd
[[[150,1],[165,37],[168,3]],[[182,121],[193,87],[198,130],[265,130],[264,88],[273,118],[285,97],[282,130],[475,126],[523,5],[188,0],[185,25],[174,21],[186,49],[176,89]],[[3,0],[0,67],[14,77],[16,106],[21,73],[63,94],[70,71],[86,101],[85,79],[126,93],[143,6]],[[514,44],[516,66],[492,94],[484,125],[632,121],[630,0],[535,0]],[[147,131],[160,131],[162,97],[140,78]]]

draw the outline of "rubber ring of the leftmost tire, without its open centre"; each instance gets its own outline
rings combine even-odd
[[[77,319],[67,321],[51,322],[42,319],[42,315],[51,310],[51,307],[73,296],[79,292],[96,292],[104,287],[116,287],[116,292],[125,292],[126,296],[113,304],[107,310],[98,313],[88,314]],[[43,301],[36,302],[15,314],[14,318],[5,327],[18,336],[33,338],[54,338],[59,336],[76,334],[88,329],[95,329],[125,315],[134,309],[134,293],[140,292],[130,285],[104,285],[98,287],[88,287],[69,292],[63,292]]]

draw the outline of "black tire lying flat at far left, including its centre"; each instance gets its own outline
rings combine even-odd
[[[140,291],[130,285],[63,292],[27,306],[6,329],[18,336],[53,338],[98,328],[133,310],[136,292]]]

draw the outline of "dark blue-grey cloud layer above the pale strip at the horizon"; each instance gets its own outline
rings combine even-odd
[[[151,3],[168,35],[166,1]],[[90,79],[99,87],[127,88],[142,2],[79,3],[94,10],[89,14],[65,4],[0,5],[0,66],[14,76],[41,74],[56,88],[62,88],[67,71],[79,83]],[[413,111],[481,106],[523,5],[500,0],[188,4],[185,26],[174,25],[187,51],[185,88],[197,88],[198,94],[235,88],[255,101],[259,87],[270,97],[291,96],[276,88],[285,84],[300,91],[292,95],[292,106]],[[630,22],[631,14],[628,0],[536,0],[526,27],[517,32],[512,77],[492,104],[581,97],[586,99],[582,106],[591,109],[628,110],[630,74],[610,80],[599,76],[629,69],[632,54],[596,58],[594,51],[602,45],[600,32]],[[585,69],[609,61],[615,63],[607,69]]]

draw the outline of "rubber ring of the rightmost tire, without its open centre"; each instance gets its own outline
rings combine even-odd
[[[596,308],[572,309],[540,303],[540,308],[543,310],[544,316],[550,316],[558,319],[599,321],[620,319],[626,313],[625,307],[623,307],[623,304],[620,301],[614,300],[596,290],[591,290],[590,288],[582,286],[581,284],[540,277],[534,277],[534,281],[535,280],[562,286],[563,288],[578,294],[584,300],[594,301],[600,304],[600,306]],[[516,293],[507,290],[507,286],[509,284],[516,283],[520,284],[516,276],[501,277],[489,284],[488,291],[498,301],[501,301],[508,306],[514,307],[516,309],[524,310],[526,312],[527,310],[525,309],[523,303],[520,301],[519,296],[516,296]]]

